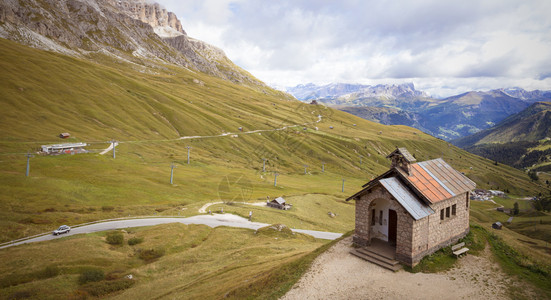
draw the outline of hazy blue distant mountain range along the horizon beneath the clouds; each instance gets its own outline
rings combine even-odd
[[[520,88],[473,91],[434,99],[416,90],[412,83],[376,86],[310,83],[288,88],[287,92],[302,101],[316,100],[386,125],[412,126],[444,140],[488,129],[534,102],[551,101],[551,91]]]

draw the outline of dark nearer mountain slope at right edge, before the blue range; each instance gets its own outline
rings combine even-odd
[[[490,129],[452,143],[517,168],[551,171],[551,102],[536,102]]]

